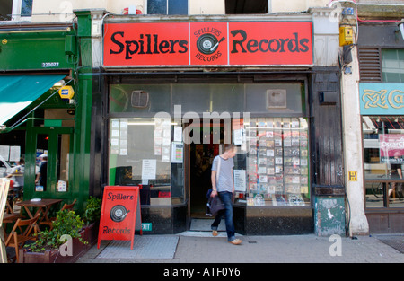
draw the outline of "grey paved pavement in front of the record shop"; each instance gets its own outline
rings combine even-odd
[[[120,244],[116,241],[101,241],[100,249],[97,249],[97,245],[93,246],[76,263],[158,263],[171,268],[169,264],[175,267],[175,264],[182,263],[241,265],[244,263],[402,264],[404,262],[404,233],[353,238],[338,235],[319,237],[315,234],[284,236],[237,234],[236,236],[242,240],[241,245],[227,242],[223,231],[216,237],[213,237],[211,232],[196,231],[168,235],[136,235],[134,250],[129,249],[129,241]],[[157,242],[160,244],[157,245]],[[164,249],[162,247],[164,244],[171,245]],[[115,252],[109,257],[105,253],[111,247],[115,247]],[[130,255],[136,252],[136,255]],[[159,255],[162,252],[168,255]],[[101,253],[104,254],[101,255]],[[153,256],[154,253],[155,256]]]

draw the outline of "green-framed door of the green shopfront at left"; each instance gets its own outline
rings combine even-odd
[[[46,109],[43,117],[31,127],[26,144],[26,167],[35,169],[25,170],[24,197],[68,198],[75,176],[74,119],[66,109]]]

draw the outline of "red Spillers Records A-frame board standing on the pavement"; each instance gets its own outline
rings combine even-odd
[[[139,229],[142,234],[139,187],[105,187],[98,249],[101,240],[130,240],[130,250],[133,250],[135,229]]]

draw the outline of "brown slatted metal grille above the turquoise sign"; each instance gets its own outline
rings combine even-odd
[[[361,82],[382,82],[380,48],[359,48],[358,55]]]

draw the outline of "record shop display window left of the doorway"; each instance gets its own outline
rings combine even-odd
[[[141,185],[142,205],[184,202],[183,146],[171,142],[173,125],[171,119],[110,119],[110,185]]]

